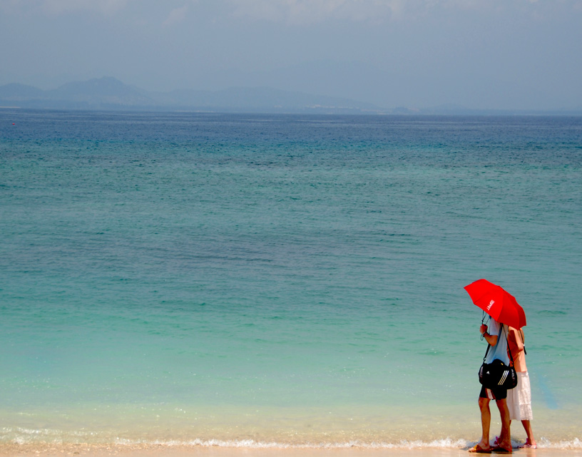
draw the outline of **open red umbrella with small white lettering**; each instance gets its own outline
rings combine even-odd
[[[526,313],[513,295],[486,279],[465,286],[471,300],[501,324],[521,329],[526,325]]]

